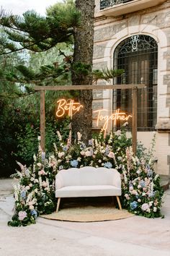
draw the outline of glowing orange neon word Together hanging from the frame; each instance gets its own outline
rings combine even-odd
[[[133,117],[131,115],[125,114],[125,112],[120,112],[120,108],[118,108],[115,113],[112,113],[111,116],[104,116],[102,114],[103,111],[107,111],[107,109],[99,109],[99,110],[96,110],[96,111],[93,111],[93,112],[94,113],[98,113],[98,116],[97,116],[97,127],[99,126],[99,121],[103,121],[104,120],[104,125],[102,127],[102,129],[104,131],[107,131],[109,120],[112,120],[113,124],[116,124],[117,120],[128,121],[128,119]]]

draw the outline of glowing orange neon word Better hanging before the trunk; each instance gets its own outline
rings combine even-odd
[[[73,99],[68,99],[67,101],[62,98],[61,100],[57,101],[58,108],[56,111],[56,116],[61,117],[64,114],[68,113],[68,116],[73,116],[77,112],[83,108],[83,105],[79,102],[75,102]]]

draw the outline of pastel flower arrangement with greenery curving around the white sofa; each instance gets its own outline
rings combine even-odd
[[[11,226],[25,226],[35,223],[39,214],[55,210],[55,174],[61,169],[83,166],[116,168],[122,179],[122,206],[131,213],[148,218],[161,216],[161,203],[164,194],[159,176],[153,170],[153,148],[143,153],[138,145],[133,154],[131,137],[125,130],[111,133],[104,138],[102,132],[89,140],[89,145],[81,141],[71,144],[71,133],[65,142],[60,132],[58,146],[53,153],[45,156],[39,146],[37,156],[30,168],[21,167],[17,171],[19,184],[14,187],[15,213]],[[153,136],[153,145],[155,136]]]

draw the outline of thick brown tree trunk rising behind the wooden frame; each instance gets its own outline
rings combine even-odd
[[[94,44],[94,0],[76,0],[76,8],[81,12],[81,27],[74,31],[73,65],[81,62],[89,64],[89,74],[79,76],[72,71],[73,85],[92,85],[92,59]],[[84,106],[73,116],[73,136],[81,132],[82,140],[86,143],[91,139],[92,127],[92,90],[79,91],[79,102]]]

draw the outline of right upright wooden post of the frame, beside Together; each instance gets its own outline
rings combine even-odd
[[[133,88],[133,153],[137,148],[137,88]]]

